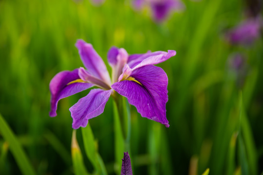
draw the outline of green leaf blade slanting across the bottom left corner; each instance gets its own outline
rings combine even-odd
[[[20,171],[23,175],[35,175],[35,170],[31,166],[28,157],[20,145],[20,142],[17,140],[11,128],[5,122],[3,117],[0,114],[0,133],[2,134],[4,140],[9,144],[10,150],[15,157]]]

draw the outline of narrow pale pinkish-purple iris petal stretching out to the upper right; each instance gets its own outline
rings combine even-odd
[[[132,70],[146,65],[155,65],[166,61],[170,57],[176,55],[176,51],[168,50],[168,52],[157,51],[153,53],[145,53],[141,57],[128,62]]]

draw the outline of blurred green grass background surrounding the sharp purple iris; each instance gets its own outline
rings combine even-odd
[[[231,46],[224,31],[244,17],[242,0],[184,0],[185,10],[156,24],[131,1],[0,0],[0,113],[38,175],[71,175],[72,118],[68,108],[88,90],[60,101],[50,118],[49,82],[83,67],[74,44],[91,43],[106,62],[111,46],[128,53],[176,50],[158,65],[169,78],[170,127],[131,106],[134,175],[259,175],[263,173],[263,40]],[[246,57],[240,85],[229,55]],[[109,65],[107,65],[110,70]],[[114,174],[113,100],[89,121],[109,175]],[[0,174],[21,174],[0,133]],[[81,130],[77,138],[83,153]],[[89,172],[93,166],[84,156]],[[120,160],[121,164],[121,160]]]

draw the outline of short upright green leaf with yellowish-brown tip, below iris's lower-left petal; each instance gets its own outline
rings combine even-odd
[[[72,132],[71,141],[71,156],[73,161],[73,168],[76,175],[89,175],[85,168],[79,143],[76,138],[76,130]]]

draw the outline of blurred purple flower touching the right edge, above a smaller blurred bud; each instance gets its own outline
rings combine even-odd
[[[261,17],[248,18],[226,33],[231,44],[250,45],[261,35],[263,21]]]

